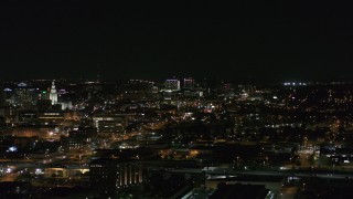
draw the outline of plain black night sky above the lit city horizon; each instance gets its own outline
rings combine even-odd
[[[353,80],[352,10],[350,1],[2,0],[0,80]]]

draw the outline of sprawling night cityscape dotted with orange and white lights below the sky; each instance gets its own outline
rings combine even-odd
[[[352,198],[349,82],[0,85],[2,198]]]

